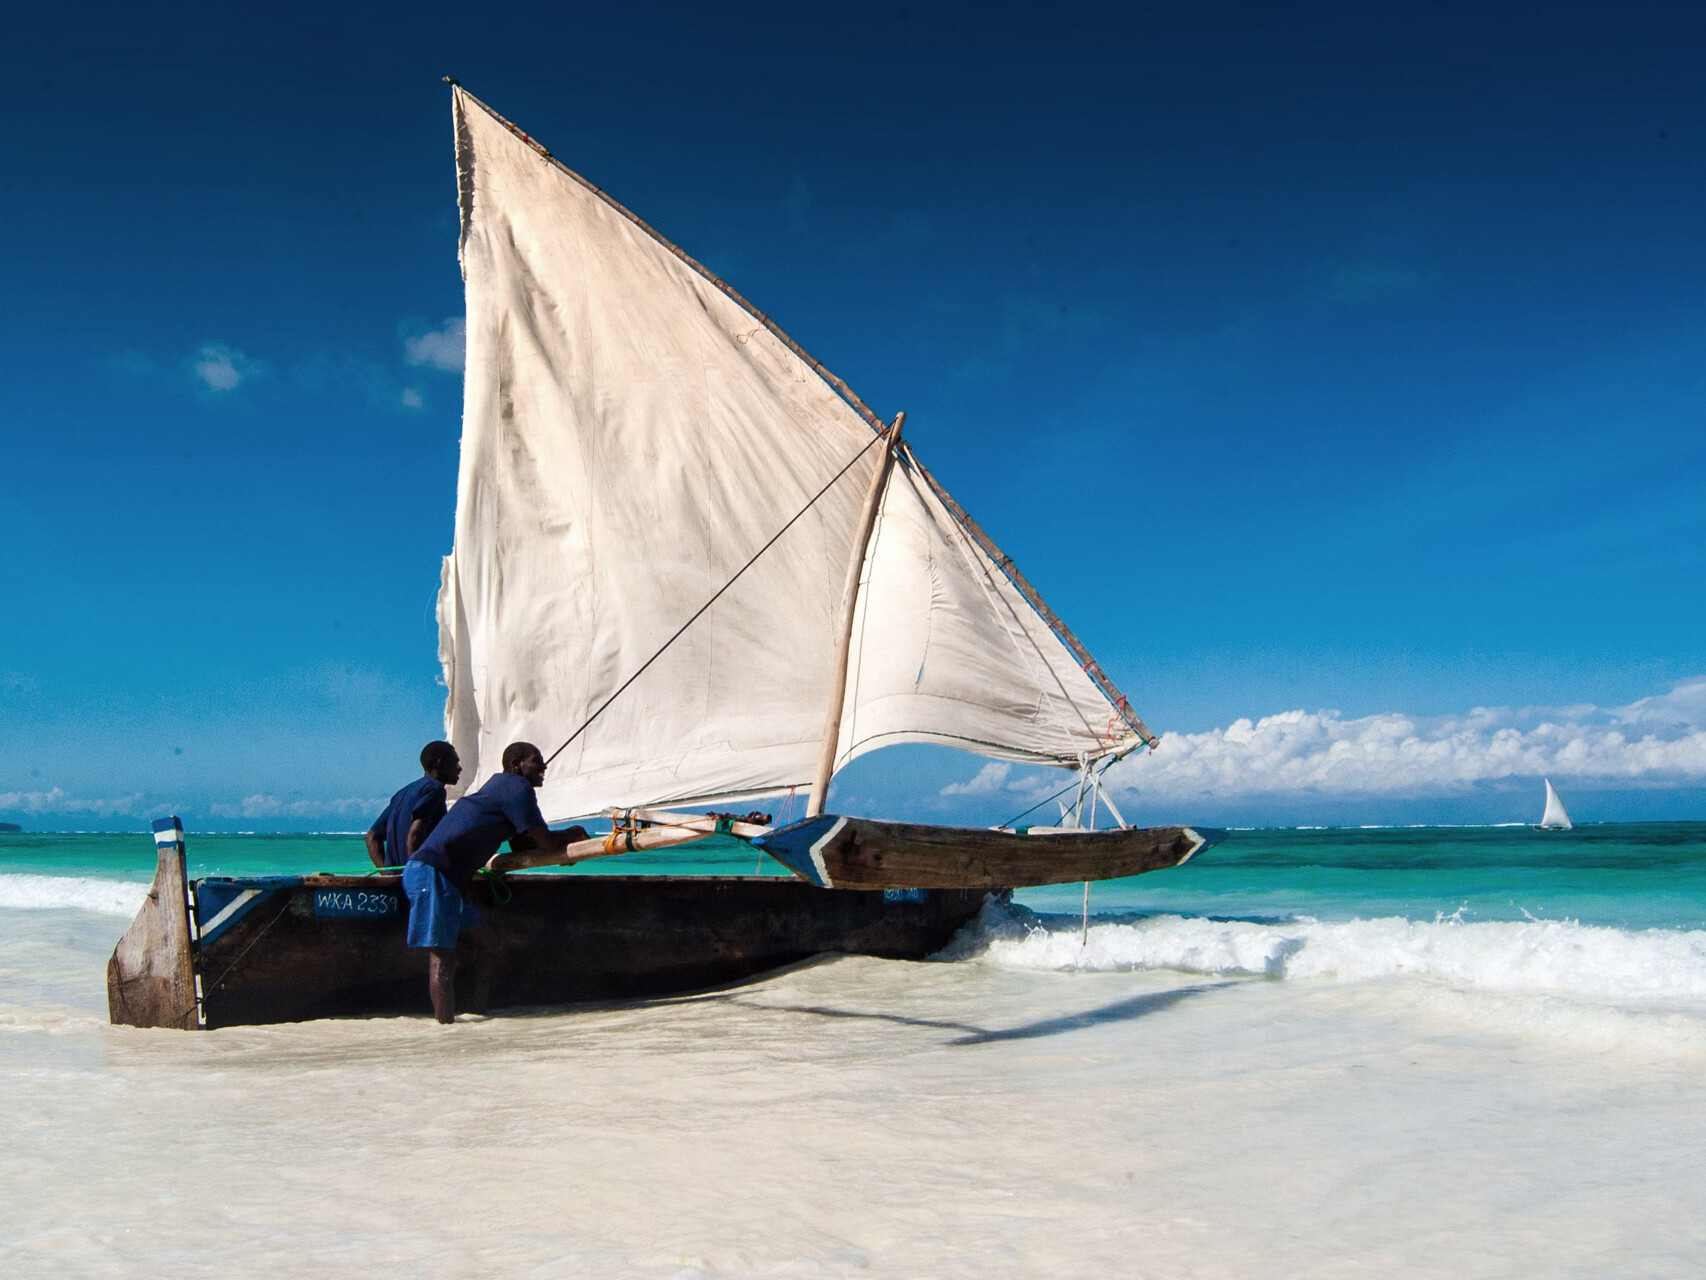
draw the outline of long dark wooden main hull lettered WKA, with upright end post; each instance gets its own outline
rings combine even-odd
[[[167,927],[169,891],[159,898],[131,925],[136,937],[126,934],[114,951],[114,1022],[193,1029],[430,1012],[426,954],[404,945],[408,903],[394,876],[196,881],[196,927],[176,934],[189,949],[188,964],[159,952],[177,945]],[[517,874],[496,896],[481,881],[473,901],[496,935],[488,1007],[512,1009],[703,990],[821,952],[923,959],[978,913],[984,893],[843,893],[778,877]],[[459,968],[462,1007],[479,968]],[[188,1007],[186,969],[200,992]],[[154,973],[165,975],[171,990]]]

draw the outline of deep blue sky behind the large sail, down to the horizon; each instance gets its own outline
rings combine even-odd
[[[906,410],[1177,759],[1242,742],[1140,812],[1523,817],[1573,763],[1578,816],[1706,817],[1697,7],[9,22],[0,819],[353,826],[440,732],[444,73]],[[1233,727],[1288,713],[1416,746],[1274,771]],[[1578,732],[1442,771],[1471,720]],[[841,800],[1034,783],[879,753]]]

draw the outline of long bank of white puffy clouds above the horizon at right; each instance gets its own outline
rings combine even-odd
[[[1505,778],[1629,788],[1706,782],[1706,676],[1628,707],[1477,707],[1418,719],[1281,712],[1204,734],[1163,734],[1109,771],[1152,799],[1450,795]]]

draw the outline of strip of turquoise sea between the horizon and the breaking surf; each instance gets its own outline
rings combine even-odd
[[[372,870],[358,835],[189,833],[186,848],[191,876]],[[154,843],[147,833],[0,833],[0,910],[72,906],[123,884],[143,884],[152,874]],[[740,841],[711,838],[674,850],[599,858],[560,874],[786,872]],[[43,884],[46,877],[68,884]],[[1025,889],[1018,901],[1044,915],[1076,916],[1082,889],[1076,884]],[[1097,882],[1090,911],[1264,923],[1402,916],[1706,928],[1706,823],[1607,823],[1573,831],[1527,826],[1230,831],[1223,843],[1175,870]]]

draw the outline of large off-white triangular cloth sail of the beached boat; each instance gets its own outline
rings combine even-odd
[[[549,754],[582,730],[541,790],[551,821],[804,790],[880,423],[686,254],[452,97],[467,364],[438,649],[464,782],[512,741]],[[1068,765],[1134,748],[1123,710],[902,452],[838,763],[911,741]]]

